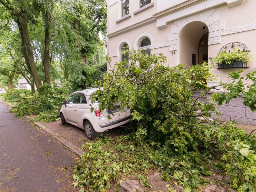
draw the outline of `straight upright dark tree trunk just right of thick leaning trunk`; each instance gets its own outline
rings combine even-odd
[[[45,11],[43,13],[44,17],[44,81],[47,84],[51,84],[50,78],[50,65],[51,65],[51,56],[50,56],[50,23],[51,23],[51,13]]]

